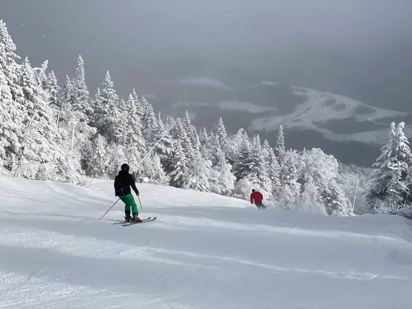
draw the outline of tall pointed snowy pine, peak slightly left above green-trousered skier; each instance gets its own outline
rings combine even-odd
[[[110,73],[106,71],[106,76],[95,96],[93,123],[98,129],[98,133],[106,138],[108,144],[116,144],[121,135],[118,130],[118,124],[120,122],[118,104],[119,97],[113,88]]]

